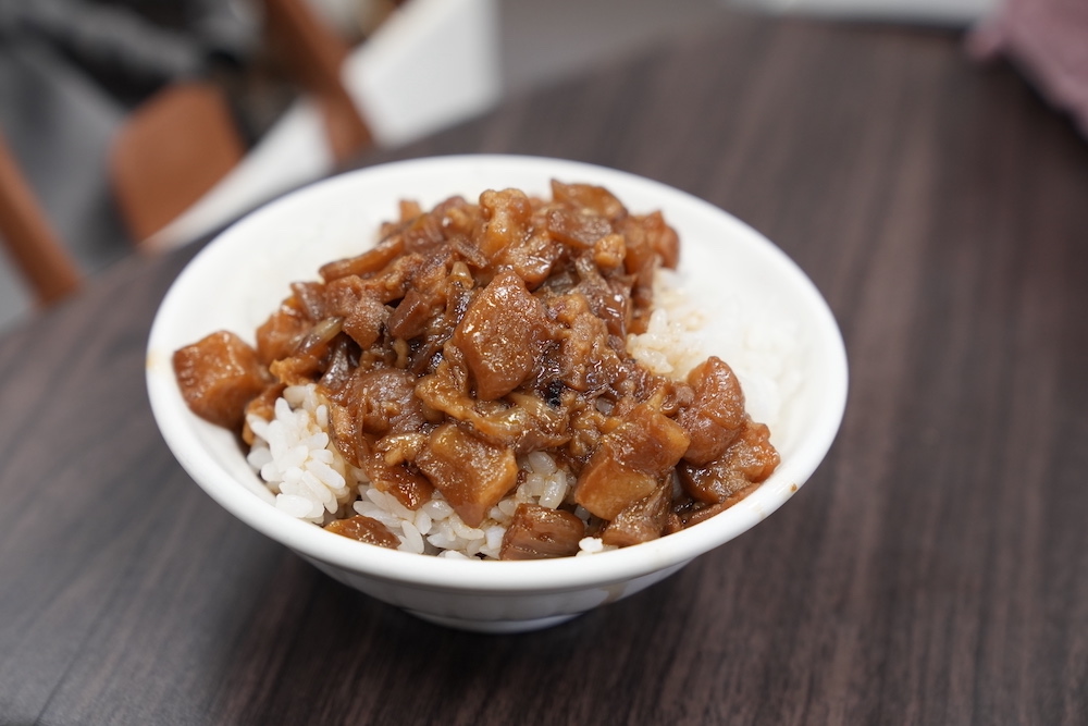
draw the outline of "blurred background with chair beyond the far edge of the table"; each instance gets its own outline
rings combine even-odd
[[[199,238],[364,149],[459,123],[716,14],[964,32],[999,4],[0,0],[0,229],[9,243],[0,333],[66,290],[42,295],[28,281],[13,251],[24,238],[40,249],[50,237],[78,284],[134,251]],[[27,222],[37,212],[45,229]]]

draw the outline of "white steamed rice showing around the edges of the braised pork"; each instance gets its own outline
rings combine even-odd
[[[628,349],[654,372],[683,378],[708,355],[704,337],[696,334],[706,318],[678,291],[675,274],[664,270],[658,273],[656,305],[648,329],[641,335],[628,336]],[[744,330],[753,329],[745,327]],[[755,340],[740,343],[742,357],[755,366],[771,366],[755,377],[747,373],[752,366],[735,366],[737,352],[718,354],[741,378],[750,410],[753,393],[750,386],[755,389],[761,408],[768,407],[768,395],[777,398],[778,384],[789,374],[789,367],[787,370],[777,368],[782,366],[783,347],[793,347],[789,340],[791,334],[791,331],[763,330],[752,334]],[[713,342],[716,350],[719,343]],[[761,411],[764,418],[757,420],[770,423],[768,418],[777,413],[777,399],[771,401],[775,410]],[[275,494],[279,509],[316,525],[355,514],[371,517],[397,537],[400,542],[397,549],[405,552],[495,559],[519,504],[532,503],[553,509],[564,502],[572,504],[572,477],[548,454],[534,452],[518,462],[524,472],[519,477],[521,483],[492,507],[479,527],[467,526],[438,491],[431,501],[412,512],[394,495],[372,487],[360,469],[344,460],[330,440],[329,409],[313,384],[286,389],[275,403],[273,420],[250,415],[247,421],[256,435],[248,455],[249,464]],[[589,520],[589,513],[581,507],[576,507],[574,512]],[[578,554],[613,549],[599,538],[588,537],[579,542]]]

